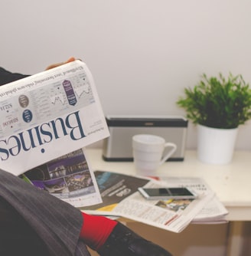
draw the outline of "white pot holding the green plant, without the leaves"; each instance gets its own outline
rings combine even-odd
[[[209,164],[227,164],[233,158],[238,128],[197,126],[197,158]]]

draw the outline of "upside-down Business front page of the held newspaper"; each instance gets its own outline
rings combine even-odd
[[[15,175],[109,136],[82,61],[0,87],[0,118],[1,167]]]

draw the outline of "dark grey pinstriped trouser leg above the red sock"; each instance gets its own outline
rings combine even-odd
[[[0,169],[0,255],[90,255],[77,208]]]

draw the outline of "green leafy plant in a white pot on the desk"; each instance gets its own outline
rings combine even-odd
[[[251,90],[239,74],[207,77],[194,88],[185,88],[177,101],[186,116],[197,124],[197,154],[203,162],[230,162],[238,127],[251,118]],[[221,146],[225,146],[222,148]]]

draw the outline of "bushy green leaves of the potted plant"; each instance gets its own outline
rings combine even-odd
[[[236,128],[251,118],[251,90],[241,75],[227,79],[203,74],[194,88],[184,89],[177,101],[193,123],[214,128]]]

